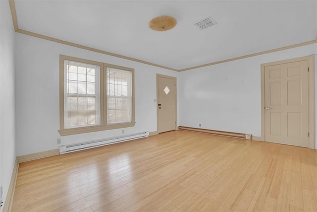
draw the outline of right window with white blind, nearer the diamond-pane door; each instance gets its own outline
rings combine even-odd
[[[107,123],[131,122],[132,83],[131,71],[106,68]]]

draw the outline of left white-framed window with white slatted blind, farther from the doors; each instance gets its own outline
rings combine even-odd
[[[100,125],[100,67],[64,61],[64,128]]]

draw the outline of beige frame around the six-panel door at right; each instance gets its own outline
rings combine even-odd
[[[315,56],[306,56],[293,58],[289,60],[276,61],[271,63],[261,64],[261,141],[265,141],[265,80],[264,68],[266,66],[274,66],[286,63],[299,61],[308,61],[308,147],[315,149]]]

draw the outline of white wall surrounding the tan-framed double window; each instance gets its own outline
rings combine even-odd
[[[157,131],[156,74],[178,76],[133,61],[16,33],[16,144],[17,155],[58,148],[61,144],[122,135],[122,129],[60,137],[59,55],[67,55],[135,69],[135,121],[125,134]],[[137,49],[135,51],[138,51]],[[149,52],[151,54],[151,52]]]

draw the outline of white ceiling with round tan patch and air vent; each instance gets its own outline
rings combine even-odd
[[[15,0],[20,29],[185,69],[315,40],[315,0]],[[148,27],[157,16],[175,28]],[[194,24],[211,16],[217,24]]]

